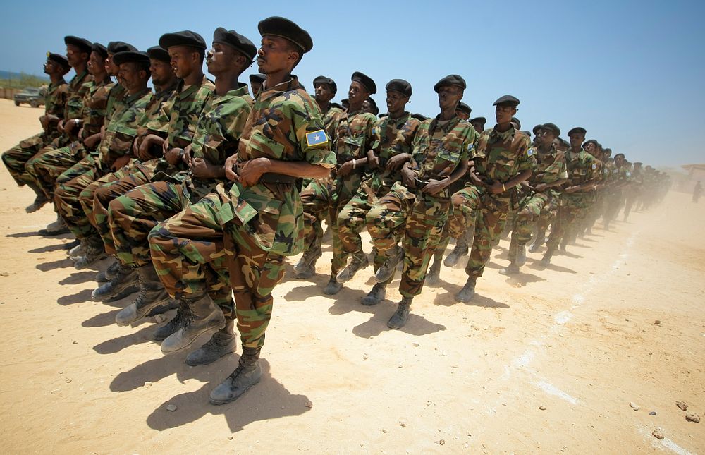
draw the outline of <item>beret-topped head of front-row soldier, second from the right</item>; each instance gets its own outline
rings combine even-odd
[[[256,54],[257,47],[247,37],[219,27],[213,32],[213,46],[206,54],[206,66],[216,78],[231,72],[239,76],[252,64]]]

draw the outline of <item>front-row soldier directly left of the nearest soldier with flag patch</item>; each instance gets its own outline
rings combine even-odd
[[[149,267],[151,273],[153,269],[147,239],[149,231],[158,222],[185,210],[226,182],[225,160],[236,150],[254,104],[247,84],[240,83],[238,78],[252,64],[255,54],[255,44],[246,37],[235,30],[216,28],[213,47],[206,55],[208,71],[216,76],[215,91],[204,104],[191,144],[184,149],[182,159],[188,165],[188,171],[163,181],[156,181],[155,177],[152,183],[138,186],[110,203],[109,218],[113,223],[111,229],[114,237],[121,228],[124,232],[120,236],[129,238],[129,257],[127,248],[118,246],[118,258],[125,265],[136,268],[137,272],[141,273],[142,269]],[[234,315],[227,274],[224,272],[226,267],[216,264],[214,269],[216,272],[209,275],[212,280],[207,283],[207,291],[216,303],[228,308],[228,315]],[[142,283],[147,285],[144,279]],[[160,304],[159,299],[137,299],[116,315],[116,323],[126,325],[137,322]],[[183,310],[180,309],[182,313]],[[202,316],[214,310],[215,315],[223,315],[211,305],[193,310],[206,312]],[[167,352],[166,347],[163,346],[163,349]],[[221,332],[214,334],[211,341],[191,353],[186,362],[189,365],[204,365],[234,349],[235,334],[230,320]]]

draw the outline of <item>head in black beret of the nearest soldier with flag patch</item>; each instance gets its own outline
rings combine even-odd
[[[272,16],[259,22],[262,45],[257,51],[257,66],[262,74],[291,73],[303,54],[313,48],[306,30],[287,18]]]

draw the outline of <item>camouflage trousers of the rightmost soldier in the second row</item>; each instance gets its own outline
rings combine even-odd
[[[404,267],[399,292],[404,297],[418,296],[424,288],[429,262],[448,219],[448,196],[447,190],[437,196],[420,191],[413,193],[397,182],[367,212],[367,232],[382,262],[396,245],[403,229]]]

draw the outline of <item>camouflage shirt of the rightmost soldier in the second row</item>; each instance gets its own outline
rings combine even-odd
[[[439,116],[424,120],[414,138],[412,157],[423,181],[450,176],[461,161],[472,156],[477,145],[477,131],[470,123],[458,116],[439,121]],[[447,190],[439,197],[447,197]]]

